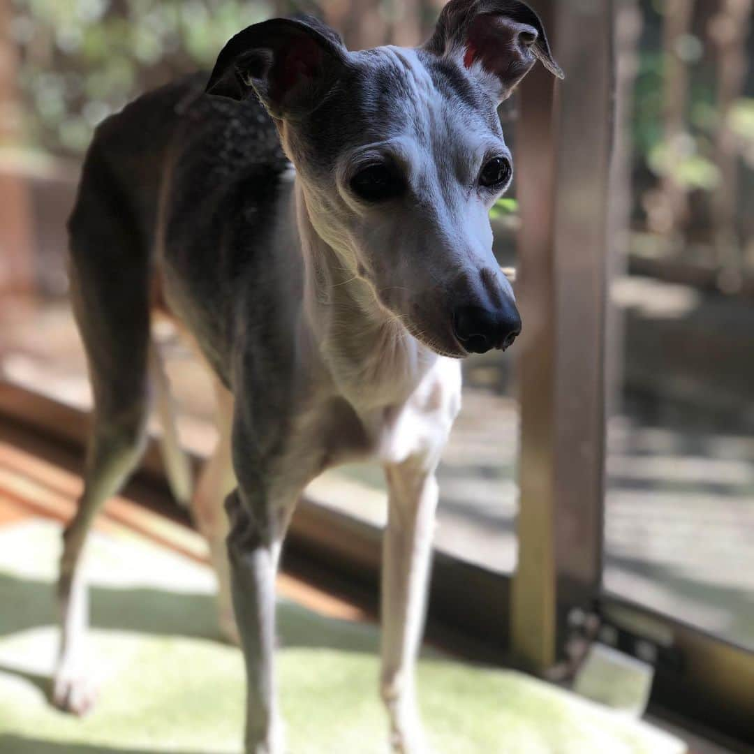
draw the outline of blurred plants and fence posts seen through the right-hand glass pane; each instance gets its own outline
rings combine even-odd
[[[631,123],[631,252],[734,293],[754,266],[752,0],[642,0]]]

